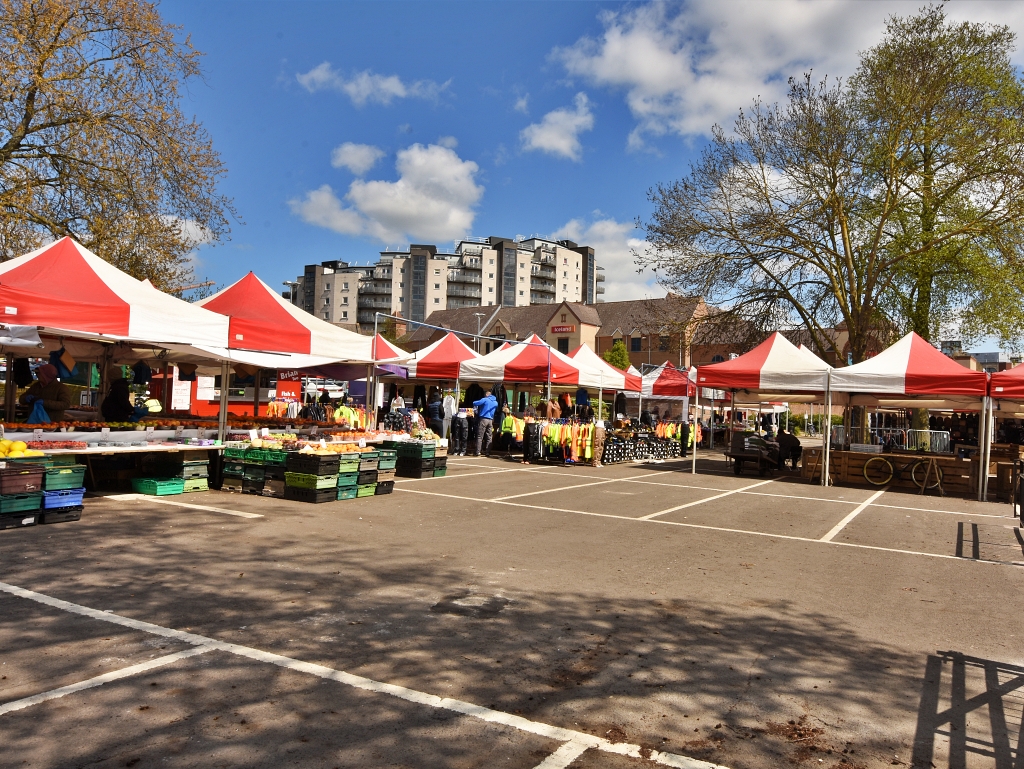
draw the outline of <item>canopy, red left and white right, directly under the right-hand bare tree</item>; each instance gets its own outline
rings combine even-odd
[[[828,364],[775,332],[732,360],[697,368],[697,384],[717,390],[824,392]]]

